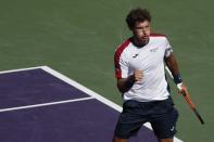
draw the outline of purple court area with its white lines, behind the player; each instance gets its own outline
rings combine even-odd
[[[0,72],[2,142],[110,142],[121,111],[48,66]],[[146,124],[130,142],[156,139]]]

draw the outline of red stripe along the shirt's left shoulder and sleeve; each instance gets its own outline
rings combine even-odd
[[[119,66],[119,57],[121,57],[122,52],[128,47],[129,43],[130,43],[130,40],[127,39],[115,51],[115,54],[114,54],[114,66],[115,66],[115,77],[116,78],[122,78],[122,69],[121,69],[121,66]]]

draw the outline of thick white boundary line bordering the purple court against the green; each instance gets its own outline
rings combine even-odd
[[[13,69],[13,70],[5,70],[5,72],[0,72],[0,74],[5,74],[5,73],[13,73],[13,72],[21,72],[21,70],[29,70],[29,69],[37,69],[37,68],[42,68],[43,70],[46,70],[47,73],[58,77],[59,79],[67,82],[68,85],[73,86],[73,87],[76,87],[77,89],[86,92],[87,94],[91,95],[91,98],[88,98],[88,99],[97,99],[99,100],[100,102],[106,104],[108,106],[114,108],[115,111],[117,112],[122,112],[122,106],[115,104],[114,102],[103,98],[102,95],[98,94],[97,92],[84,87],[83,85],[70,79],[68,77],[62,75],[61,73],[50,68],[49,66],[37,66],[37,67],[29,67],[29,68],[21,68],[21,69]],[[52,104],[51,104],[52,105]],[[45,106],[45,105],[43,105]],[[22,106],[22,107],[28,107],[28,106]],[[28,107],[29,108],[29,107]],[[152,130],[152,127],[150,125],[150,122],[147,122],[144,124],[144,126],[149,129]],[[184,142],[177,138],[174,138],[174,142]]]

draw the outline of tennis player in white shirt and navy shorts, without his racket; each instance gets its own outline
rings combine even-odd
[[[179,92],[187,92],[173,49],[166,36],[151,33],[148,10],[133,9],[126,23],[133,36],[116,49],[114,56],[117,88],[124,103],[113,142],[127,142],[148,121],[159,142],[173,142],[178,112],[169,95],[164,63]]]

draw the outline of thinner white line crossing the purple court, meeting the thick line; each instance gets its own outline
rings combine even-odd
[[[26,105],[26,106],[11,107],[11,108],[2,108],[0,109],[0,113],[26,109],[26,108],[36,108],[36,107],[42,107],[42,106],[49,106],[49,105],[55,105],[55,104],[65,104],[65,103],[71,103],[71,102],[80,102],[80,101],[86,101],[86,100],[91,100],[91,99],[95,99],[95,98],[88,96],[88,98],[58,101],[58,102],[51,102],[51,103],[41,103],[41,104],[34,104],[34,105]]]

